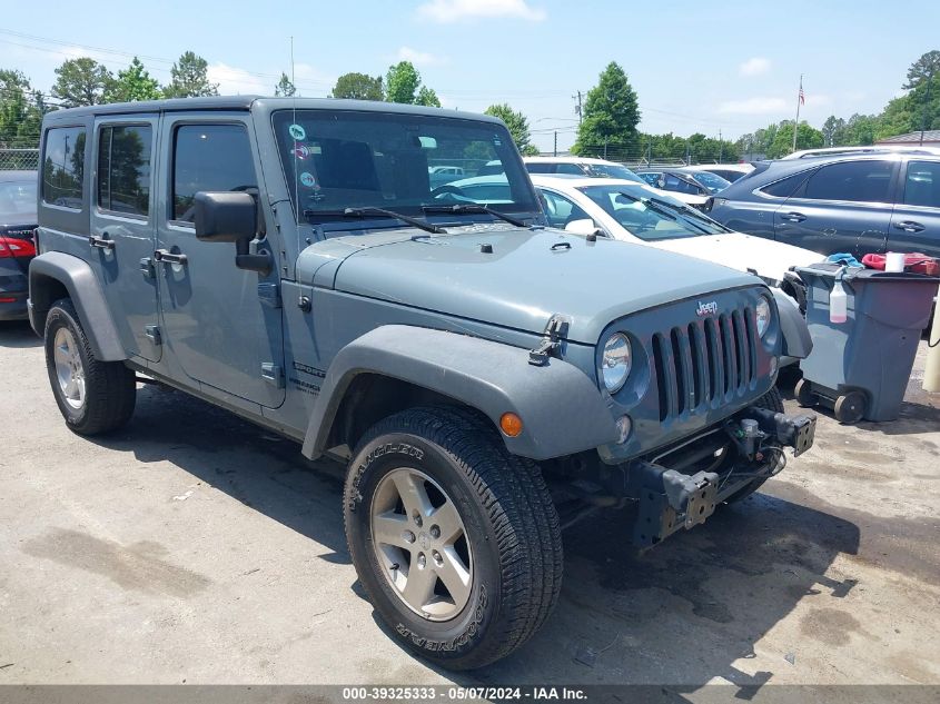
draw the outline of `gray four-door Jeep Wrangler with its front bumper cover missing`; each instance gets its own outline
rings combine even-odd
[[[634,504],[647,548],[812,444],[773,390],[799,313],[546,229],[499,120],[167,100],[52,112],[41,149],[29,311],[68,426],[120,427],[146,378],[347,463],[362,584],[446,667],[542,625],[585,507]]]

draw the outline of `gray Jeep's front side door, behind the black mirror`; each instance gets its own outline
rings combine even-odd
[[[197,192],[259,192],[260,165],[246,117],[164,118],[168,202],[155,257],[162,260],[155,266],[164,339],[186,375],[207,393],[220,389],[277,407],[285,395],[277,267],[268,276],[238,269],[235,245],[199,241],[194,227]]]

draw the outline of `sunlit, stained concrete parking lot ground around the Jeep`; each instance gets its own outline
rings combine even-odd
[[[815,447],[761,494],[645,556],[616,513],[567,531],[546,627],[455,676],[364,599],[338,467],[154,386],[125,429],[72,435],[40,341],[0,324],[0,683],[936,683],[924,353],[900,420],[821,412]]]

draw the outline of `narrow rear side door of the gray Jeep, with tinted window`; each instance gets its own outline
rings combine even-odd
[[[156,333],[157,280],[146,262],[154,254],[154,155],[157,116],[99,118],[95,123],[95,192],[89,261],[131,355],[160,359]],[[141,264],[144,262],[144,264]]]

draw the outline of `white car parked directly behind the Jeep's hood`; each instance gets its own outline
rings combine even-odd
[[[645,185],[622,179],[532,176],[552,227],[578,235],[669,249],[751,271],[788,290],[785,272],[822,259],[819,252],[735,232]],[[793,294],[791,294],[792,296]]]

